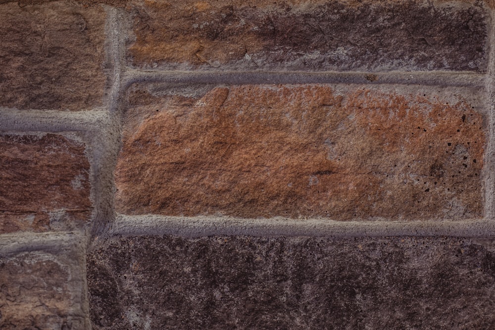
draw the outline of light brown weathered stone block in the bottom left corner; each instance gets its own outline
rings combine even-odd
[[[84,273],[72,261],[44,251],[0,252],[0,329],[88,329]]]

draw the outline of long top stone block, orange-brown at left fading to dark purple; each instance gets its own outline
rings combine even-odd
[[[144,68],[485,71],[482,1],[134,0]]]

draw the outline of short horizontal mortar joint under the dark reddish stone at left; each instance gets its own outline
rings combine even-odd
[[[72,250],[74,245],[85,241],[84,233],[78,232],[0,234],[0,256],[29,251],[57,253],[61,250]]]

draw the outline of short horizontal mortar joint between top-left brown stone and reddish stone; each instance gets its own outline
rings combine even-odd
[[[18,110],[0,107],[0,131],[92,131],[101,130],[110,122],[104,108],[83,111]]]

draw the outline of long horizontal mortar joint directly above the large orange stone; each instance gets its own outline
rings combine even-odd
[[[367,79],[371,79],[368,80]],[[427,86],[485,86],[486,75],[475,72],[266,72],[266,71],[164,71],[127,69],[123,88],[139,82],[175,84],[407,84]]]

